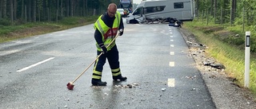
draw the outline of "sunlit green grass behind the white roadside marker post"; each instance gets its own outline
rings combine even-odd
[[[210,26],[218,27],[222,25],[203,25],[202,21],[185,22],[183,28],[193,31],[194,35],[203,44],[206,44],[207,56],[214,57],[218,62],[225,65],[225,72],[228,76],[236,78],[237,84],[244,86],[244,71],[245,71],[245,47],[239,49],[241,45],[230,45],[226,41],[221,40],[222,36],[218,36],[218,31],[228,31],[230,33],[242,33],[239,26],[225,27],[224,30],[210,30]],[[213,29],[213,28],[210,28]],[[245,35],[242,35],[244,37]],[[256,58],[250,54],[250,91],[256,95]]]

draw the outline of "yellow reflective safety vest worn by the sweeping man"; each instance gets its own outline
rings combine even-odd
[[[102,41],[104,45],[107,47],[110,45],[110,42],[114,39],[114,37],[118,33],[118,27],[121,21],[121,14],[117,11],[114,18],[113,27],[108,27],[104,21],[102,21],[102,15],[98,18],[98,20],[94,23],[94,29],[98,29],[100,33],[102,33]],[[115,45],[115,41],[107,48],[107,51],[110,51]],[[102,51],[99,45],[96,43],[98,51]]]

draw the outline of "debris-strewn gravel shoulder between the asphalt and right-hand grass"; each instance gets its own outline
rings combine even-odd
[[[190,31],[183,28],[179,30],[190,48],[190,55],[194,57],[216,107],[218,109],[255,109],[255,98],[248,89],[235,84],[235,78],[227,76],[225,70],[205,64],[206,61],[217,63],[214,58],[206,56],[204,52],[206,45],[198,44]]]

